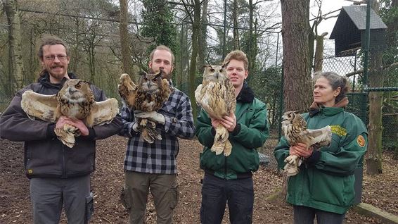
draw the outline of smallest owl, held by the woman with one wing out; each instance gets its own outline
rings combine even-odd
[[[301,142],[307,144],[308,148],[319,149],[319,147],[328,146],[332,140],[332,132],[329,125],[321,129],[309,130],[304,118],[297,111],[283,113],[282,120],[282,130],[290,146]],[[302,158],[290,155],[285,158],[285,163],[284,172],[288,176],[293,176],[298,173]]]

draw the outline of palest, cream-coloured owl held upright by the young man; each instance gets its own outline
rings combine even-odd
[[[196,103],[207,112],[211,118],[221,119],[235,112],[235,88],[226,76],[226,65],[205,66],[203,82],[195,90]],[[232,145],[229,142],[229,132],[223,125],[216,127],[212,151],[217,155],[224,151],[225,156],[231,154]]]

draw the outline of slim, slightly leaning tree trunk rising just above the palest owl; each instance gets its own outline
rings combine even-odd
[[[200,23],[200,32],[199,32],[199,46],[198,46],[198,70],[200,73],[203,72],[203,66],[207,64],[206,62],[206,46],[207,46],[207,5],[209,3],[209,0],[205,0],[202,3],[202,16],[200,18],[201,23]]]

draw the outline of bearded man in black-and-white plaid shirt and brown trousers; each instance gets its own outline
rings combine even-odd
[[[171,83],[174,54],[160,45],[150,53],[149,68],[162,68],[162,78]],[[129,137],[124,158],[124,189],[122,203],[129,210],[129,222],[143,223],[148,189],[155,201],[158,223],[172,223],[173,210],[178,202],[176,182],[176,156],[179,152],[177,137],[192,139],[195,135],[191,101],[179,89],[174,88],[169,99],[159,111],[136,113],[136,118],[153,120],[162,139],[149,144],[140,139],[134,111],[123,106],[120,112],[124,127],[120,135]],[[160,128],[159,128],[160,127]]]

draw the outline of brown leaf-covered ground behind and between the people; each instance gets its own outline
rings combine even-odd
[[[120,190],[124,182],[123,161],[127,140],[113,136],[98,141],[96,172],[91,185],[95,195],[95,213],[91,223],[128,223],[127,212],[120,204]],[[276,139],[269,139],[262,149],[272,156]],[[196,140],[181,140],[178,156],[180,198],[174,213],[174,223],[200,223],[200,179],[203,171],[198,164],[202,147]],[[383,174],[364,174],[362,201],[398,215],[398,161],[392,154],[383,155]],[[366,173],[366,172],[364,172]],[[255,173],[255,209],[253,223],[293,223],[292,208],[287,204],[271,203],[266,198],[281,187],[275,161],[261,166]],[[156,211],[149,197],[147,223],[156,223]],[[0,139],[0,223],[32,223],[29,180],[23,170],[23,144]],[[65,215],[60,223],[66,223]],[[229,223],[226,211],[223,223]],[[381,220],[361,216],[349,210],[345,223],[382,223]]]

